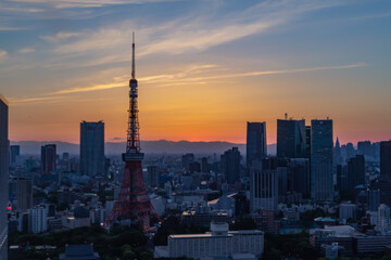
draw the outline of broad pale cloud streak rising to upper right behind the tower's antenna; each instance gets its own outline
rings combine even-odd
[[[134,21],[126,21],[122,24],[99,28],[96,31],[75,32],[79,34],[79,37],[71,42],[61,42],[59,39],[59,44],[54,47],[53,52],[63,55],[76,53],[96,55],[98,51],[103,51],[103,55],[116,55],[121,58],[124,55],[119,52],[129,50],[134,30],[137,30],[137,38],[140,42],[150,42],[139,49],[138,56],[154,53],[199,52],[265,32],[300,18],[304,13],[336,6],[342,2],[266,1],[244,11],[229,13],[222,20],[215,20],[213,12],[202,16],[197,13],[168,21],[165,24],[144,27],[136,26]]]

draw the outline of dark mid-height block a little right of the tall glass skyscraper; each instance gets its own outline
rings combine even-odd
[[[364,155],[356,155],[348,161],[348,188],[353,190],[360,184],[365,185]]]

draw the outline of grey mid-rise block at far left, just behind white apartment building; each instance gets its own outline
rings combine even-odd
[[[17,210],[26,212],[33,208],[33,181],[30,179],[20,178],[16,182]]]

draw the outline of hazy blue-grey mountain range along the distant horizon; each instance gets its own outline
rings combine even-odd
[[[55,144],[58,154],[67,152],[73,155],[79,154],[79,145],[61,141],[20,141],[11,142],[12,145],[21,145],[21,154],[39,155],[40,147],[45,144]],[[105,154],[117,155],[125,151],[125,142],[106,142]],[[238,147],[240,153],[245,154],[245,144],[237,144],[230,142],[189,142],[189,141],[141,141],[141,150],[146,154],[223,154],[225,151]],[[270,155],[276,154],[276,144],[267,146]]]

